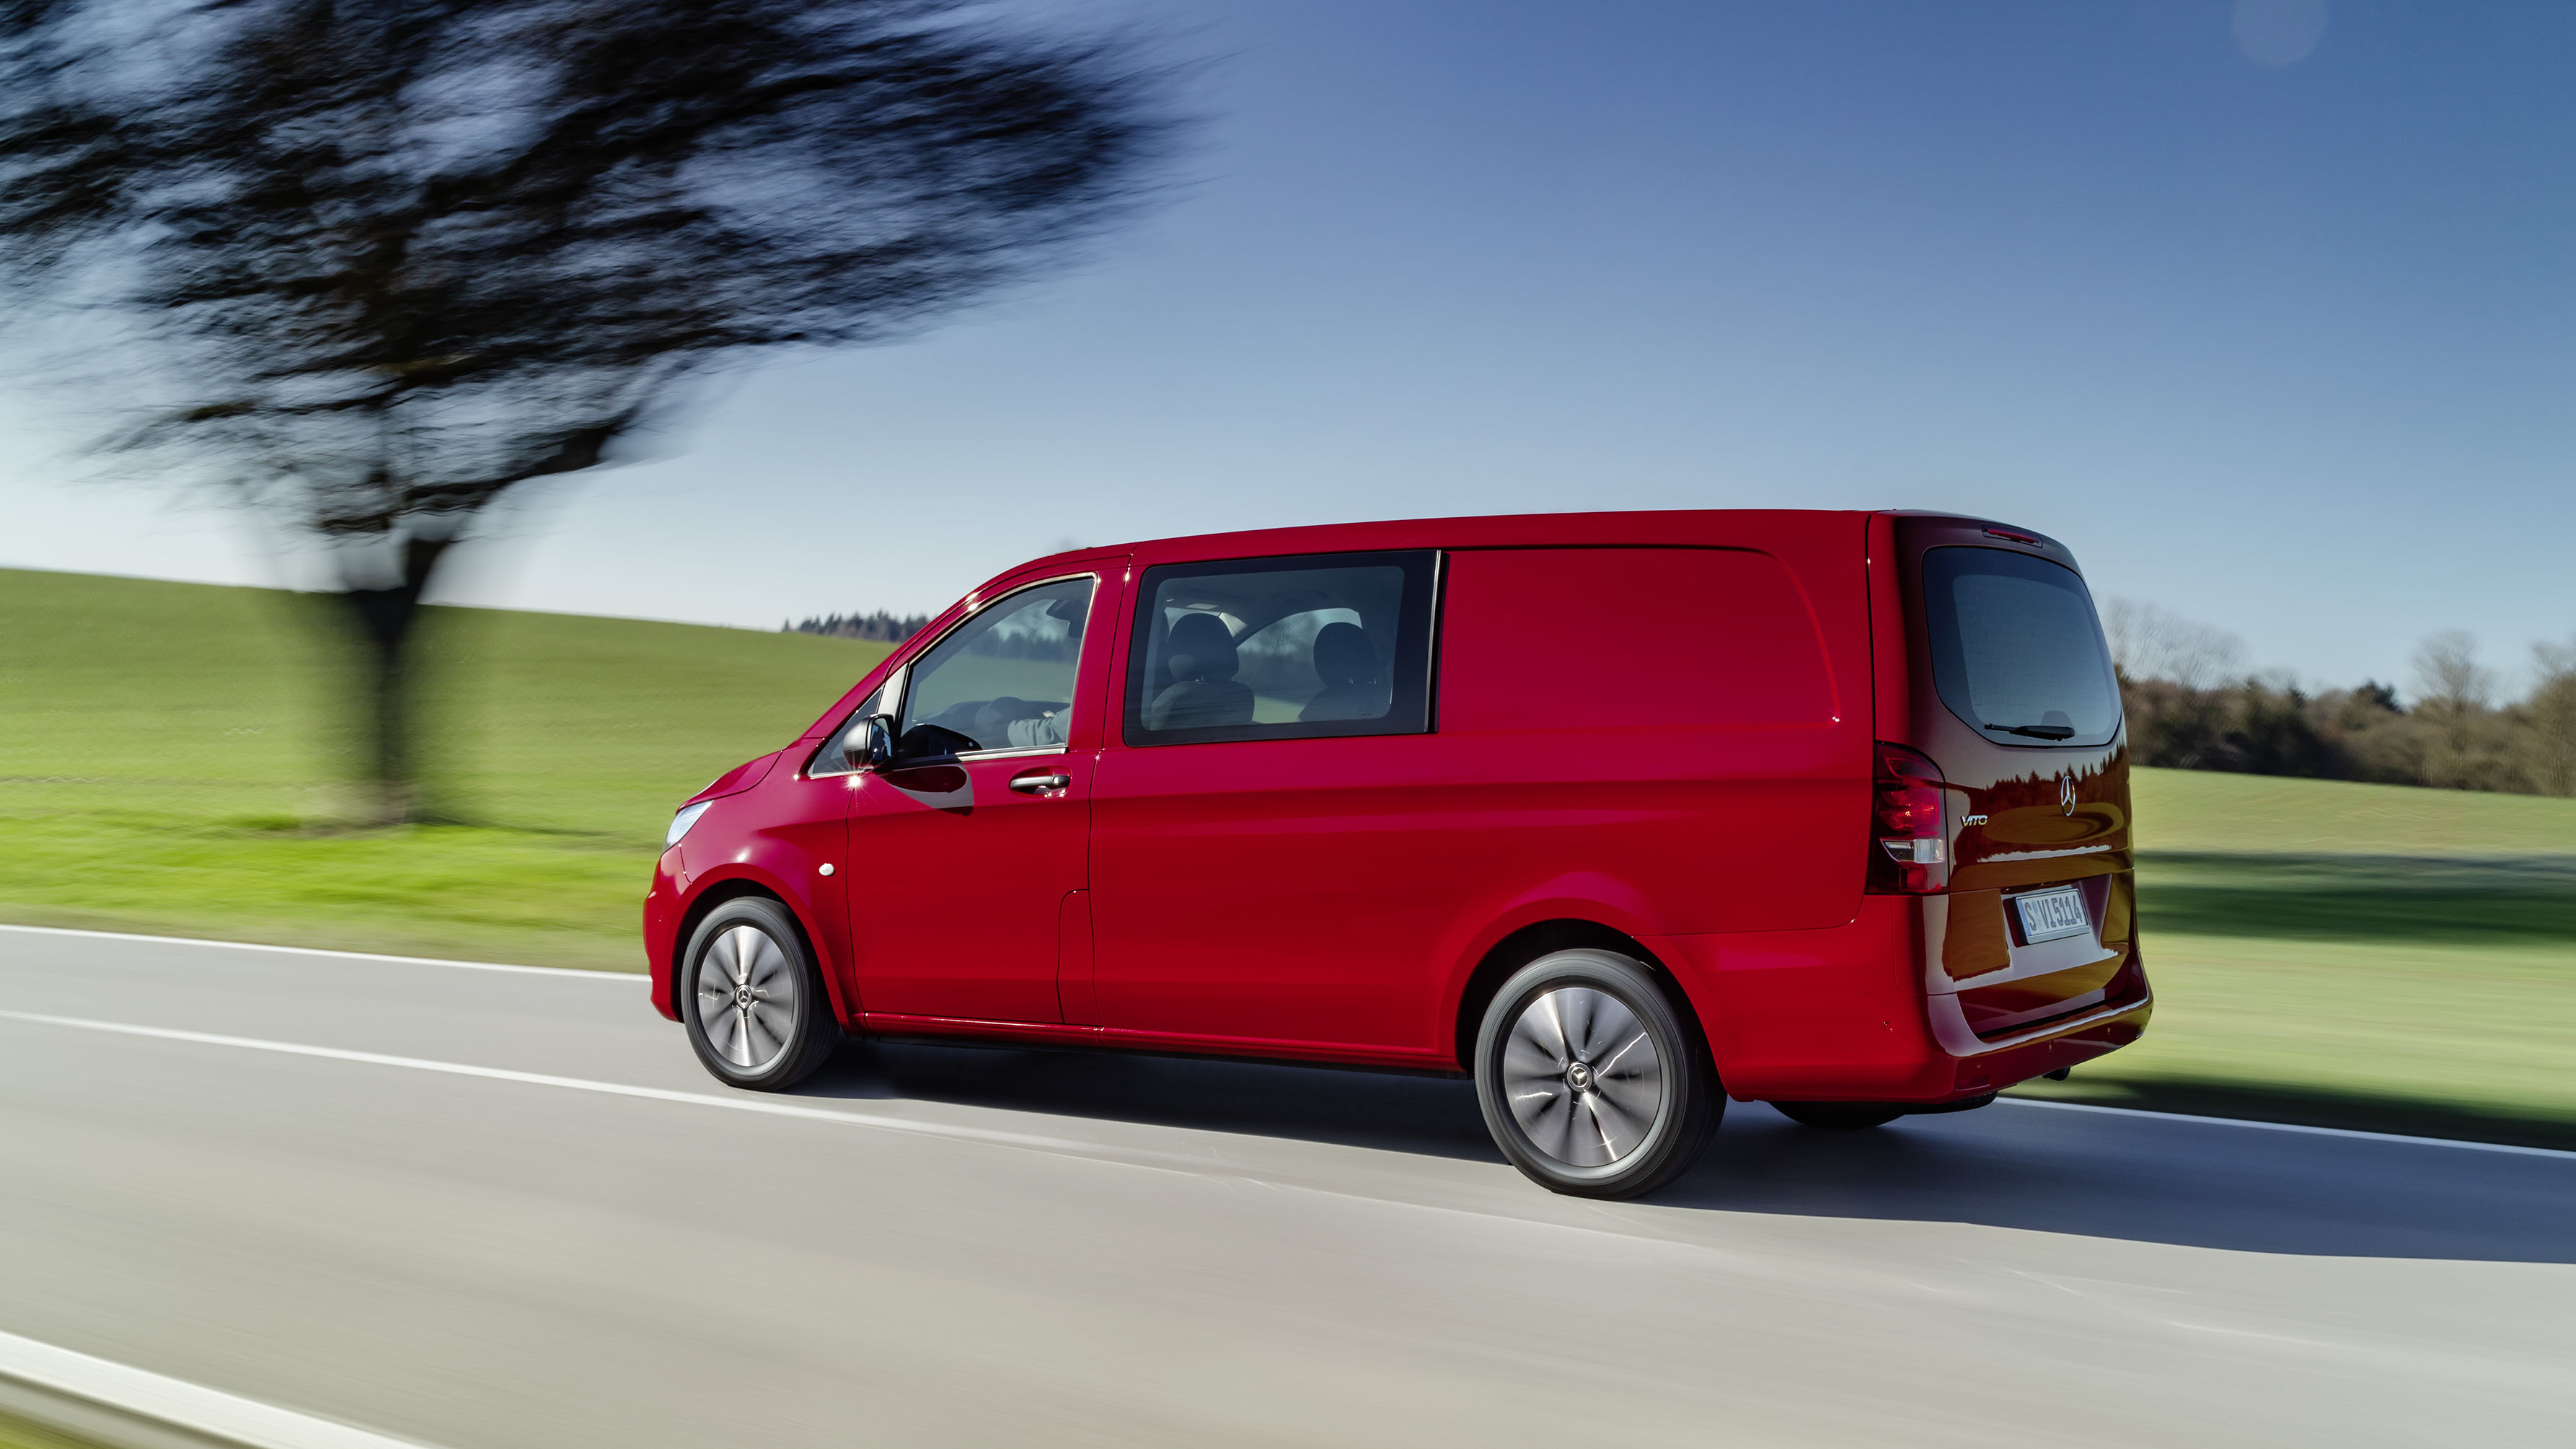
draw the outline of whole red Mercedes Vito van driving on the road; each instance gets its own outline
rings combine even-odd
[[[1412,1067],[1587,1196],[1728,1096],[1984,1106],[2151,1000],[2092,596],[1945,513],[1046,557],[698,792],[644,941],[732,1085],[845,1031]]]

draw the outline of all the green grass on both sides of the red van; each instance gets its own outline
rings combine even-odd
[[[0,920],[639,967],[672,804],[884,645],[435,611],[433,802],[345,830],[327,619],[0,570]],[[2141,771],[2146,1042],[2076,1101],[2576,1147],[2576,802]]]

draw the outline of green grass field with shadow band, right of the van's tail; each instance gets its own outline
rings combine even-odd
[[[2156,1024],[2022,1096],[2576,1147],[2576,802],[2138,771]]]

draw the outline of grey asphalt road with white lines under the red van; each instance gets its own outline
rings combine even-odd
[[[0,1330],[456,1449],[2576,1444],[2576,1158],[1739,1106],[1592,1204],[1463,1083],[0,931]]]

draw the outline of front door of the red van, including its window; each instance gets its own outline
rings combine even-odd
[[[850,789],[850,936],[871,1018],[1064,1018],[1059,915],[1084,887],[1097,588],[1092,572],[1007,588],[904,670],[889,701],[896,761]]]

